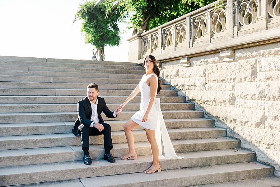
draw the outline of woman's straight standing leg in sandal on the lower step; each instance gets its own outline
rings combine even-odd
[[[155,170],[159,169],[161,166],[158,163],[158,146],[156,143],[156,136],[155,136],[155,130],[150,130],[150,129],[146,129],[146,135],[148,138],[148,141],[151,144],[151,149],[152,149],[152,155],[153,155],[153,165],[151,166],[152,168],[154,168]],[[148,171],[152,172],[153,170],[149,170]]]

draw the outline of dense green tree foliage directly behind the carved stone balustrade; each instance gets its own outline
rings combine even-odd
[[[108,0],[104,4],[108,15],[115,4],[122,9],[121,16],[128,17],[132,14],[132,27],[138,30],[138,33],[142,33],[211,2],[214,0]]]

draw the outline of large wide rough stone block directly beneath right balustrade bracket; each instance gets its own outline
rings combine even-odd
[[[256,60],[241,60],[206,66],[207,83],[251,82],[256,79]]]

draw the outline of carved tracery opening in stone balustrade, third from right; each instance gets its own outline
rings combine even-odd
[[[226,11],[223,9],[216,9],[212,15],[211,21],[212,31],[217,34],[226,29]]]

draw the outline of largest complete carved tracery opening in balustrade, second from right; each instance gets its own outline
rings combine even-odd
[[[259,17],[259,1],[243,0],[238,9],[238,21],[242,26],[255,23]]]

